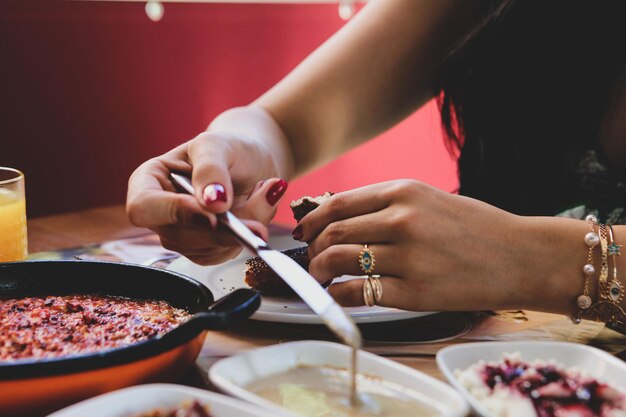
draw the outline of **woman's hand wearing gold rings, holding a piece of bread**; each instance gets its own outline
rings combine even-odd
[[[335,194],[305,216],[294,237],[309,242],[310,272],[320,282],[363,275],[367,243],[381,275],[379,305],[406,310],[512,308],[532,269],[519,253],[522,217],[418,181],[398,180]],[[582,235],[581,235],[582,236]],[[526,251],[522,251],[527,253]],[[534,252],[533,252],[534,253]],[[364,305],[363,281],[333,284],[345,306]]]

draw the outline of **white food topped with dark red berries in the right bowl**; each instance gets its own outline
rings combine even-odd
[[[504,354],[456,371],[459,382],[502,417],[626,417],[626,393],[554,361],[524,362]],[[626,381],[625,381],[626,382]]]

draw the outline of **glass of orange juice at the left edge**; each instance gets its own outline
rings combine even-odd
[[[24,174],[0,167],[0,262],[21,261],[26,255]]]

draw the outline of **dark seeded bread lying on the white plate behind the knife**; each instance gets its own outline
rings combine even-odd
[[[309,270],[308,247],[289,249],[283,253],[296,261],[302,268]],[[244,282],[251,288],[275,295],[293,295],[293,291],[261,258],[246,261]]]

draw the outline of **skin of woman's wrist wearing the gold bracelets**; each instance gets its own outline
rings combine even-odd
[[[557,217],[522,217],[517,230],[520,236],[516,245],[518,254],[512,268],[516,307],[572,318],[609,320],[608,316],[604,317],[606,314],[598,313],[606,310],[606,306],[598,310],[599,304],[608,305],[611,300],[606,294],[601,295],[599,285],[603,249],[601,245],[590,245],[585,240],[591,231],[589,222]],[[599,225],[594,224],[593,230],[597,234]],[[614,242],[620,244],[626,237],[626,227],[614,226],[613,231]],[[623,291],[626,288],[626,257],[615,254],[608,255],[608,258],[610,271],[605,280],[608,279],[609,284],[615,280]],[[593,268],[584,271],[589,263]],[[591,306],[578,305],[581,295],[590,297]],[[609,307],[614,312],[623,311],[626,301],[621,297]],[[622,314],[621,320],[626,321],[626,316]]]

